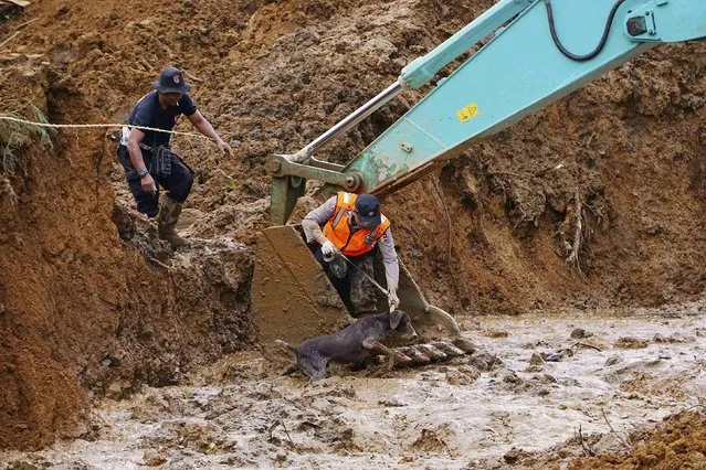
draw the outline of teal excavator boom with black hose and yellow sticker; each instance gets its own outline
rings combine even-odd
[[[651,47],[704,38],[705,0],[500,0],[410,63],[394,84],[313,142],[293,154],[272,156],[266,163],[273,177],[272,223],[286,224],[307,179],[326,183],[325,193],[389,194],[474,140],[503,130]],[[314,157],[405,88],[429,84],[483,41],[483,47],[438,81],[348,164]],[[435,309],[423,296],[420,306],[426,313]],[[447,325],[443,318],[441,323]]]

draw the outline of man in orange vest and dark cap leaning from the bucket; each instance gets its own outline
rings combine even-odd
[[[375,195],[339,192],[309,212],[302,221],[302,228],[307,243],[314,245],[314,256],[324,266],[350,314],[357,317],[366,311],[376,311],[372,282],[361,274],[373,276],[376,250],[380,252],[384,264],[390,310],[399,307],[400,265],[390,221],[380,213],[380,202]],[[333,269],[338,253],[343,253],[358,269],[347,269],[339,278],[340,273]]]

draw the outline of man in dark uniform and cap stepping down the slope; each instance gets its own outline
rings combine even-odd
[[[187,244],[177,235],[175,227],[181,214],[181,206],[191,191],[193,172],[177,154],[166,153],[170,163],[166,167],[170,167],[170,171],[165,174],[165,171],[157,168],[157,153],[160,147],[169,147],[171,135],[135,129],[130,126],[169,131],[173,129],[181,115],[185,115],[201,133],[215,142],[219,150],[229,156],[233,154],[233,150],[197,110],[189,96],[191,85],[185,82],[179,68],[165,68],[159,74],[159,81],[152,82],[152,86],[155,90],[137,102],[127,119],[127,126],[123,128],[118,159],[125,168],[130,192],[137,201],[137,210],[150,218],[157,216],[159,237],[176,248]],[[159,186],[168,191],[161,199],[161,207]]]

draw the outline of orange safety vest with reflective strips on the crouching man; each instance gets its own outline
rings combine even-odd
[[[357,194],[339,192],[336,212],[324,226],[324,235],[346,256],[359,256],[370,252],[390,227],[390,221],[380,214],[380,225],[350,232],[350,212],[356,207]]]

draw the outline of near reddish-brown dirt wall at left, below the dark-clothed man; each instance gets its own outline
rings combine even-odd
[[[27,64],[15,65],[2,89],[27,83]],[[102,119],[51,71],[34,73],[25,96],[43,114]],[[2,174],[11,190],[0,212],[3,448],[87,435],[89,394],[177,383],[190,365],[252,342],[250,249],[212,245],[188,266],[160,263],[129,238],[139,220],[115,200],[103,132],[18,149],[21,164]]]

